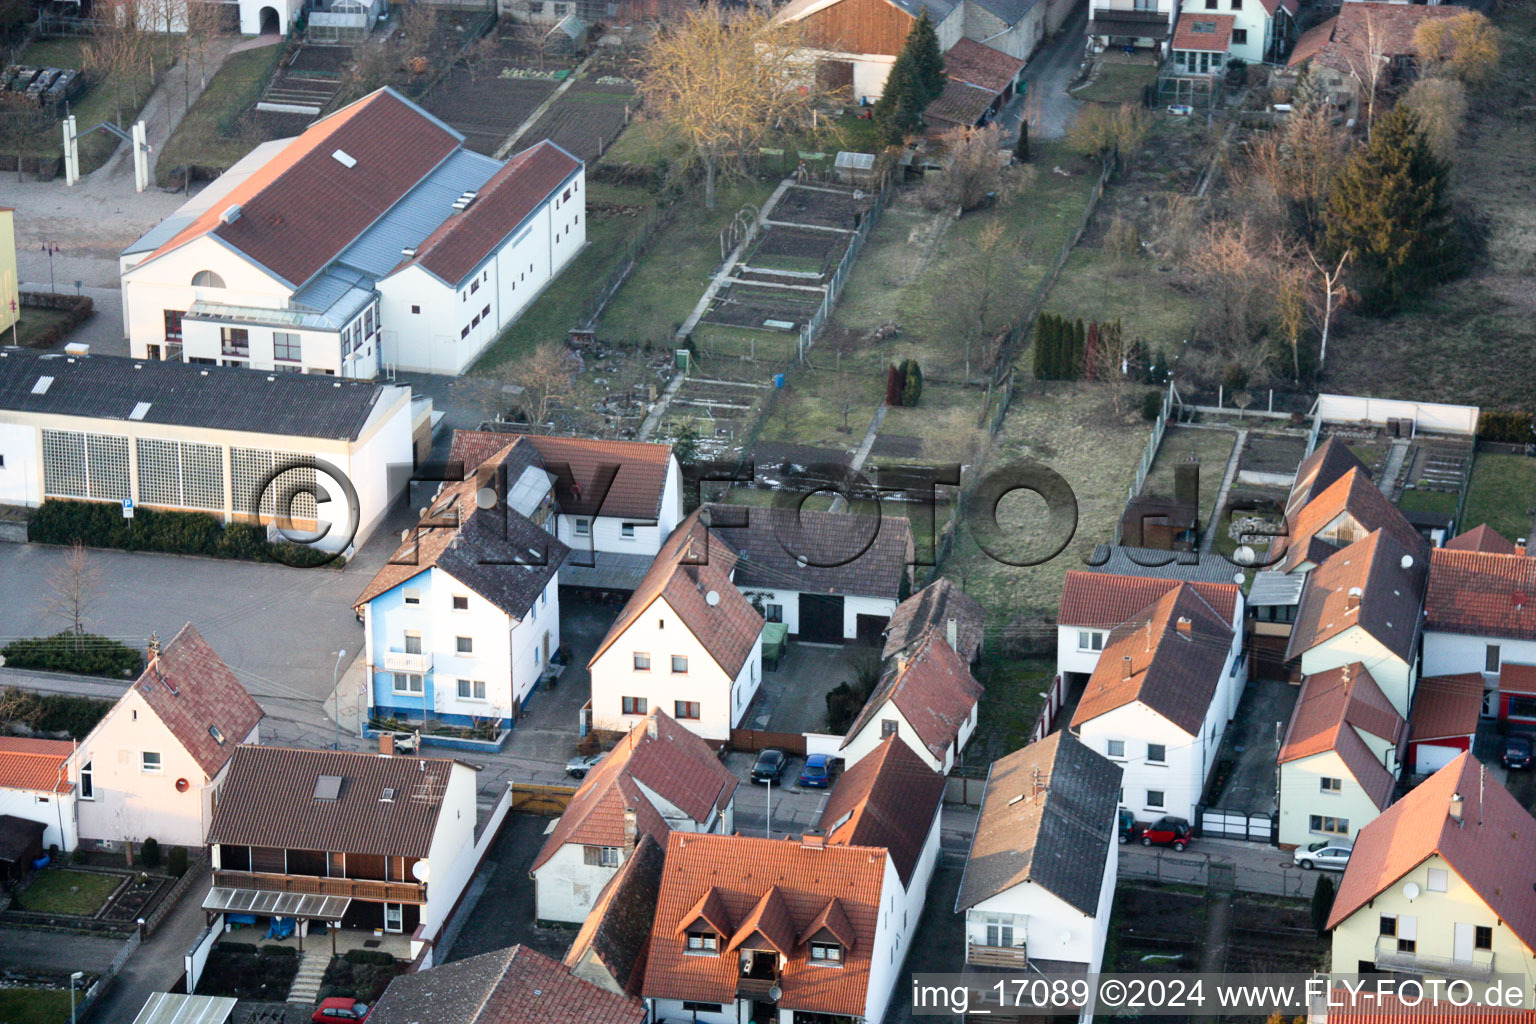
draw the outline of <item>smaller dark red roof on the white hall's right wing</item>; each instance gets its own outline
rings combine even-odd
[[[459,284],[578,170],[581,161],[550,140],[524,149],[479,187],[468,209],[442,221],[416,247],[416,256],[392,273],[418,264],[447,284]]]

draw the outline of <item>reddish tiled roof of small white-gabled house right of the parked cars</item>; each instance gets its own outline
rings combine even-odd
[[[945,751],[957,740],[960,726],[980,699],[982,683],[975,682],[971,669],[949,643],[937,631],[929,629],[928,637],[912,648],[911,654],[899,654],[886,666],[880,685],[869,694],[842,746],[852,743],[880,708],[891,702],[917,732],[928,752],[943,760]]]

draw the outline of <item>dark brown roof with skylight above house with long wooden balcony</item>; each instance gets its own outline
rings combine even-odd
[[[209,843],[425,857],[455,761],[355,751],[237,746]],[[335,800],[315,797],[339,775]],[[393,789],[386,801],[384,791]]]

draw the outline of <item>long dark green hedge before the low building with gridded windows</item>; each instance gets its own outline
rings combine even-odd
[[[224,525],[217,516],[194,511],[138,508],[123,519],[120,505],[104,502],[45,500],[26,528],[34,543],[91,548],[203,554],[214,559],[283,562],[284,565],[326,565],[336,560],[329,551],[304,543],[270,543],[266,528],[235,522]]]

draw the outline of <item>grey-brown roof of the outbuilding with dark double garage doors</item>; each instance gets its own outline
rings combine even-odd
[[[794,508],[713,504],[705,508],[710,528],[740,556],[737,586],[900,597],[912,562],[912,527],[902,516],[797,514]]]

